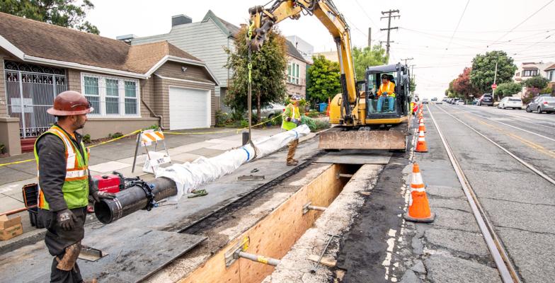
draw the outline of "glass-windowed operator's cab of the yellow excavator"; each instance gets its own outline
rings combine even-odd
[[[389,76],[389,81],[395,83],[395,97],[377,95],[384,74]],[[384,119],[398,120],[408,115],[411,99],[409,97],[410,74],[407,66],[398,63],[368,67],[365,76],[367,123],[376,124],[377,121]]]

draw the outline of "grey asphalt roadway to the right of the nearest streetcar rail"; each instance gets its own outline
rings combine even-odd
[[[426,111],[445,134],[522,282],[551,282],[555,185],[462,122],[553,178],[555,115],[448,104],[430,104]]]

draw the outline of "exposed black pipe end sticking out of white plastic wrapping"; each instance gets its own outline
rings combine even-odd
[[[164,200],[166,197],[171,197],[177,194],[176,183],[169,178],[156,178],[147,185],[151,187],[152,195],[156,202]],[[149,200],[147,192],[140,185],[129,187],[115,194],[113,200],[101,200],[94,204],[94,214],[98,221],[103,224],[110,224],[123,216],[137,212],[139,209],[147,208]]]

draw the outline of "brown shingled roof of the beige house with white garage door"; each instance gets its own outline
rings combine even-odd
[[[166,41],[131,46],[8,13],[0,13],[0,47],[24,62],[140,79],[148,78],[167,61],[206,67],[200,59]],[[207,71],[210,73],[210,69]]]

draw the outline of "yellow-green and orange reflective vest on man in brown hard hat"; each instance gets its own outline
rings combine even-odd
[[[47,132],[41,134],[35,141],[35,159],[37,161],[37,168],[39,162],[37,144],[39,139],[45,134],[54,134],[64,142],[67,165],[66,178],[64,185],[62,186],[62,192],[64,194],[64,200],[66,201],[67,208],[74,209],[86,207],[88,204],[88,151],[85,144],[81,141],[81,144],[79,144],[79,146],[81,146],[81,150],[79,150],[63,129],[57,125],[53,125]],[[85,156],[82,156],[81,152],[83,152]],[[40,172],[38,172],[38,175],[40,175]],[[44,192],[40,189],[40,185],[38,187],[38,192],[38,207],[41,209],[50,209],[50,205],[46,201]]]

